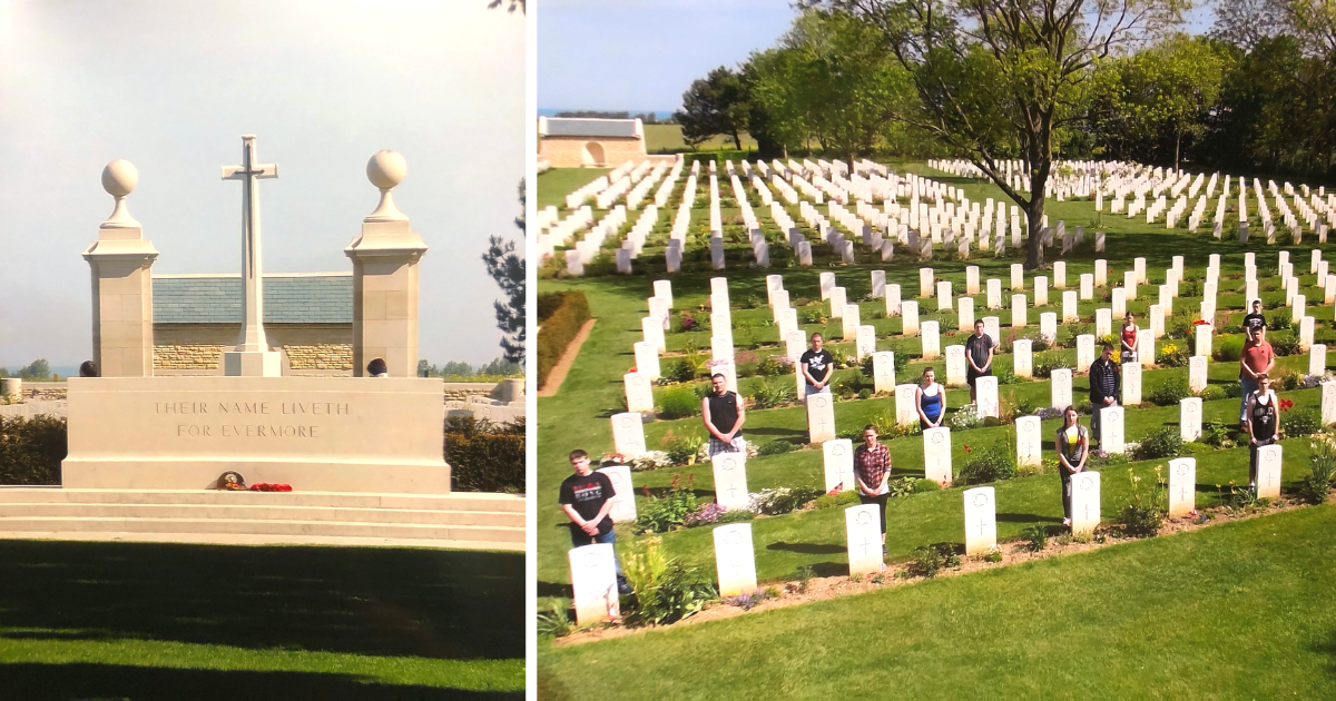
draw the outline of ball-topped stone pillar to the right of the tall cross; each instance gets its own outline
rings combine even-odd
[[[362,235],[343,250],[353,259],[353,374],[383,358],[390,377],[417,375],[418,262],[422,236],[394,206],[390,191],[407,174],[403,156],[379,151],[366,176],[381,190],[381,204],[362,220]]]

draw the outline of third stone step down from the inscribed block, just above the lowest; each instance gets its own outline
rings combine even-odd
[[[171,539],[187,534],[285,535],[334,538],[394,538],[514,543],[524,547],[522,526],[469,526],[436,523],[375,523],[346,521],[293,521],[244,518],[99,518],[99,517],[3,517],[0,533],[154,533]]]

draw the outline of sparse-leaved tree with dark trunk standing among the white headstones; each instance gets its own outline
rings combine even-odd
[[[1186,0],[808,0],[878,28],[919,99],[898,119],[963,155],[1026,212],[1043,266],[1045,187],[1093,65],[1182,21]],[[1002,160],[1025,162],[1029,196]]]

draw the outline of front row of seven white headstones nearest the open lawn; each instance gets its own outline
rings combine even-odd
[[[1283,446],[1264,446],[1257,453],[1257,495],[1260,498],[1279,498]],[[627,469],[620,466],[620,470]],[[625,474],[629,479],[629,470]],[[1169,461],[1169,517],[1189,515],[1196,509],[1196,458]],[[962,493],[962,499],[966,555],[981,555],[997,550],[995,489],[969,489]],[[1100,473],[1082,471],[1073,475],[1071,531],[1074,534],[1094,531],[1100,525],[1101,506]],[[723,597],[752,594],[758,589],[752,525],[717,526],[712,535],[719,594]],[[844,545],[851,577],[863,577],[884,570],[880,515],[876,505],[851,506],[844,510]],[[568,553],[578,625],[620,617],[615,557],[612,545],[605,543],[585,545]]]

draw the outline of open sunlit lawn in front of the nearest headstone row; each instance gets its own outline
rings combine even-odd
[[[1332,698],[1336,507],[599,644],[576,698]]]

